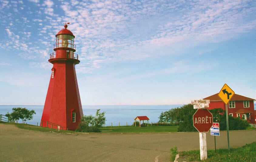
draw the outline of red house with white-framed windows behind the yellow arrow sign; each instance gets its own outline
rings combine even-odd
[[[214,108],[222,108],[226,111],[225,103],[219,98],[217,93],[204,98],[204,100],[210,100],[210,104],[207,109],[211,110]],[[254,101],[255,99],[253,98],[234,94],[227,104],[227,112],[232,117],[240,117],[242,119],[246,119],[251,124],[255,124]]]

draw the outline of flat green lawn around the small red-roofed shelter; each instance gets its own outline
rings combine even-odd
[[[103,133],[161,133],[161,132],[177,132],[177,126],[120,126],[120,127],[101,127],[99,128]]]

